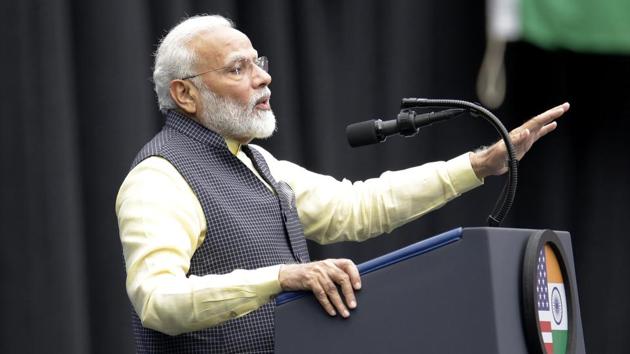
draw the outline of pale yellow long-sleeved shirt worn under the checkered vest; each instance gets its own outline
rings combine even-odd
[[[351,183],[276,160],[256,146],[276,180],[294,190],[307,238],[365,240],[411,221],[482,183],[468,155]],[[258,175],[247,156],[236,156]],[[116,201],[127,293],[143,325],[175,335],[247,314],[278,294],[280,265],[202,277],[186,274],[207,227],[199,201],[166,160],[150,157]]]

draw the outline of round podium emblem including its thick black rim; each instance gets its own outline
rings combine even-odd
[[[537,231],[527,241],[523,258],[523,320],[530,353],[575,351],[572,301],[575,281],[555,232]]]

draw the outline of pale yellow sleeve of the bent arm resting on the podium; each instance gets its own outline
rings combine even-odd
[[[225,322],[281,291],[280,266],[190,276],[206,221],[193,191],[166,160],[151,157],[127,176],[116,213],[127,267],[127,294],[142,324],[176,335]]]

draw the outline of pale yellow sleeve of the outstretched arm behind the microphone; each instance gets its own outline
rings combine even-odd
[[[468,153],[352,183],[278,161],[256,148],[274,178],[293,188],[304,234],[320,244],[389,233],[483,183],[472,170]]]

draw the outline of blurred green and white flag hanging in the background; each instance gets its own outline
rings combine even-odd
[[[486,53],[477,95],[496,108],[505,97],[510,41],[581,53],[630,55],[630,0],[486,0]]]

